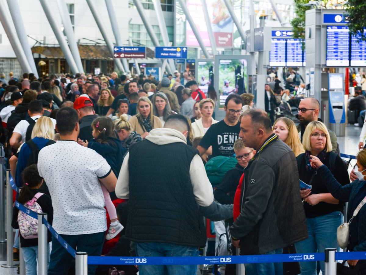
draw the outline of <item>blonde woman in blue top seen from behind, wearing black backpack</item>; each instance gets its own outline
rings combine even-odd
[[[53,140],[55,136],[55,127],[53,126],[53,122],[49,117],[40,117],[36,120],[36,124],[34,124],[31,139],[27,142],[23,143],[20,147],[19,155],[18,155],[18,162],[16,164],[15,170],[15,182],[18,187],[23,186],[22,180],[22,172],[23,170],[33,164],[31,155],[34,155],[35,151],[40,151],[43,147],[51,145],[55,143]],[[37,154],[38,157],[38,154]],[[37,162],[35,162],[37,164]],[[42,193],[48,194],[48,188],[44,184],[42,188]]]

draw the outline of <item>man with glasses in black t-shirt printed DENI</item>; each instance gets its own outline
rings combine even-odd
[[[234,155],[234,142],[239,138],[239,116],[242,114],[243,99],[238,94],[231,94],[225,101],[225,118],[212,124],[202,137],[197,149],[202,156],[212,146],[212,157]]]

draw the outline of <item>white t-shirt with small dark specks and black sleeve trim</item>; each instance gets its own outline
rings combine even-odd
[[[108,176],[111,166],[100,154],[75,141],[58,140],[40,151],[38,172],[51,194],[52,226],[57,233],[83,235],[107,230],[98,178]]]

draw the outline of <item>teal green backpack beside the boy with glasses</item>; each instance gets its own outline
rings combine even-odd
[[[206,164],[206,174],[213,187],[218,186],[224,179],[228,170],[231,170],[238,163],[236,158],[229,158],[219,155],[211,158]]]

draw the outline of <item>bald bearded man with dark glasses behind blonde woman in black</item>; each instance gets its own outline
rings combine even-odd
[[[302,141],[302,136],[305,132],[305,128],[311,121],[323,122],[319,118],[320,103],[316,98],[312,97],[304,98],[303,100],[300,101],[299,108],[297,110],[299,112],[300,124],[296,126],[296,128],[299,132],[299,137]],[[330,141],[332,142],[332,148],[333,148],[332,151],[338,154],[339,146],[337,143],[337,136],[335,132],[330,131],[329,129],[328,131]]]

